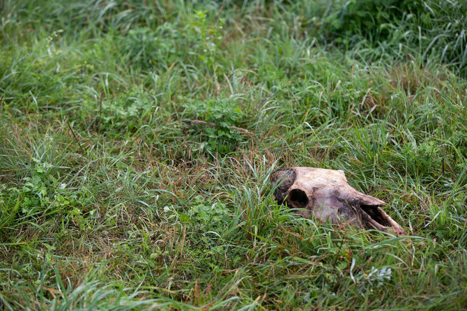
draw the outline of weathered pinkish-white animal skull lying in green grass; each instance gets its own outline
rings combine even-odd
[[[352,188],[344,171],[292,167],[277,169],[270,180],[273,185],[278,185],[274,192],[277,202],[287,202],[306,218],[314,215],[334,224],[349,223],[362,229],[406,235],[404,229],[380,208],[385,202]]]

